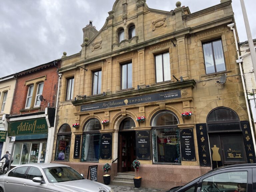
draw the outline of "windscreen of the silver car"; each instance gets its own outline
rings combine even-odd
[[[43,170],[50,183],[84,179],[82,175],[71,167],[48,167]]]

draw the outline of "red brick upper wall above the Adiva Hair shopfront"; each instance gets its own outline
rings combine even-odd
[[[37,77],[42,77],[44,75],[46,75],[46,80],[44,81],[42,95],[45,100],[41,101],[40,111],[45,110],[45,108],[48,105],[48,102],[50,103],[50,107],[56,106],[59,76],[57,74],[57,67],[50,66],[44,69],[31,72],[30,74],[24,74],[17,77],[17,83],[16,83],[16,88],[15,88],[13,103],[11,108],[11,115],[18,115],[20,114],[21,109],[25,109],[27,91],[28,91],[28,86],[24,85],[25,81],[35,79]],[[24,111],[24,112],[21,112],[21,114],[33,113],[38,111],[39,111],[38,109]]]

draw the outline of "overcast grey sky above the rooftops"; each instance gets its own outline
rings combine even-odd
[[[220,0],[180,0],[191,13]],[[99,31],[115,0],[2,0],[0,1],[0,77],[78,53],[82,28],[93,21]],[[149,8],[170,11],[176,0],[147,0]],[[252,37],[256,38],[255,0],[244,0]],[[240,0],[233,0],[239,41],[247,40]]]

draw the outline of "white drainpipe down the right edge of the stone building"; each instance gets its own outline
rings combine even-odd
[[[256,152],[255,151],[256,145],[255,145],[255,137],[254,137],[253,126],[252,126],[251,112],[250,112],[249,104],[248,104],[248,100],[247,100],[248,97],[247,97],[247,93],[246,93],[246,87],[245,87],[245,82],[244,82],[244,77],[243,77],[244,75],[243,75],[243,70],[242,70],[242,65],[241,65],[243,59],[241,58],[240,53],[239,53],[238,43],[237,43],[237,38],[236,38],[236,31],[233,28],[234,25],[235,25],[234,23],[231,23],[231,24],[228,24],[228,27],[230,28],[230,30],[233,30],[233,33],[234,33],[234,38],[235,38],[235,43],[236,43],[236,52],[237,52],[237,57],[238,57],[238,60],[236,60],[236,63],[239,64],[239,68],[240,68],[240,74],[241,74],[241,79],[242,79],[243,89],[244,89],[244,97],[245,97],[247,113],[248,113],[248,117],[249,117],[250,128],[251,128],[251,132],[252,132],[252,141],[253,141],[253,145],[254,145],[254,152]]]

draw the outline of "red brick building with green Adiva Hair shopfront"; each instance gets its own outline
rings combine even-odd
[[[14,74],[16,87],[8,121],[8,148],[15,136],[12,166],[49,162],[54,136],[58,60]]]

